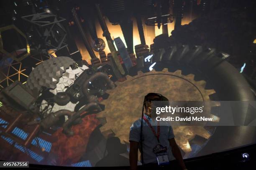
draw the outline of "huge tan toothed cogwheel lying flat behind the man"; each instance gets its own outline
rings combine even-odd
[[[138,75],[126,76],[124,82],[115,82],[117,87],[107,90],[107,100],[102,100],[105,110],[98,113],[99,119],[106,119],[106,123],[100,128],[101,132],[112,130],[122,143],[128,143],[129,130],[132,123],[141,117],[144,96],[149,92],[164,94],[170,101],[210,101],[209,95],[215,90],[206,90],[204,80],[195,81],[194,75],[182,75],[181,70],[169,72],[167,68],[162,71],[138,72]],[[209,112],[211,107],[205,107]],[[218,106],[218,103],[216,105]],[[212,115],[214,120],[218,117]],[[185,153],[192,151],[189,140],[199,135],[206,140],[212,133],[203,126],[179,126],[173,127],[177,144]]]

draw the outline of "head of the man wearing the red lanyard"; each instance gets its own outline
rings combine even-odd
[[[152,105],[152,101],[168,101],[166,97],[159,93],[148,93],[144,98],[144,107],[146,109],[146,115],[155,117],[156,112],[154,111],[154,106]]]

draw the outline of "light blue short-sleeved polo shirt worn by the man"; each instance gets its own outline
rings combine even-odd
[[[154,128],[156,134],[157,134],[157,126],[153,126],[156,123],[153,123],[153,120],[148,115],[144,114],[146,118],[148,119],[148,122],[152,125]],[[156,120],[154,120],[156,121]],[[153,152],[153,148],[158,144],[157,138],[152,132],[150,126],[148,126],[148,123],[143,120],[143,130],[142,130],[142,140],[143,140],[143,162],[146,163],[157,163],[156,160],[156,154]],[[140,142],[140,136],[141,136],[141,118],[139,120],[136,120],[133,122],[130,128],[130,141]],[[169,160],[174,160],[174,156],[172,155],[171,146],[169,145],[169,140],[174,138],[174,133],[172,126],[166,125],[166,126],[160,126],[160,135],[159,135],[159,141],[160,144],[164,147],[167,147],[167,154]],[[141,152],[141,145],[139,145],[139,150]]]

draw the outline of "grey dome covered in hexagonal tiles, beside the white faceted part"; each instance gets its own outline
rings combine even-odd
[[[41,87],[55,89],[60,77],[74,63],[74,60],[69,57],[54,57],[46,60],[33,69],[28,77],[26,86],[31,90],[36,89],[37,91]]]

